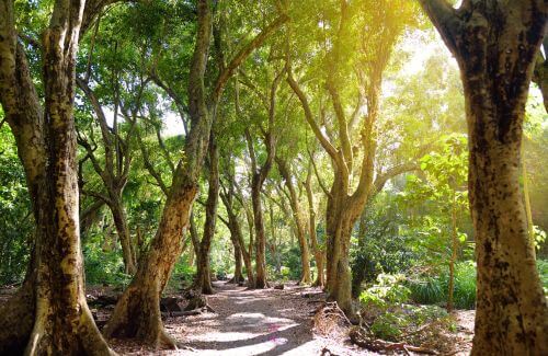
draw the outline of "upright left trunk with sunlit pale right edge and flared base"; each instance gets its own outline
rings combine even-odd
[[[83,2],[69,7],[56,2],[43,37],[49,164],[43,187],[47,198],[42,200],[47,203],[39,205],[36,221],[45,233],[36,241],[36,318],[25,351],[28,355],[111,353],[85,302],[80,250],[72,104],[82,9]]]

